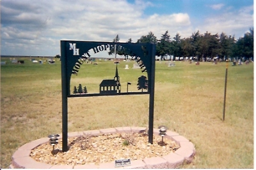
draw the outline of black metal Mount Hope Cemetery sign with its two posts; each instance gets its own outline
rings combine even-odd
[[[92,56],[100,52],[108,52],[118,48],[125,55],[131,56],[140,66],[141,75],[138,77],[138,91],[129,92],[125,89],[125,82],[122,82],[118,74],[118,64],[113,71],[113,78],[99,81],[97,92],[90,92],[89,87],[83,86],[82,83],[70,85],[72,76],[79,75],[81,68]],[[152,43],[110,43],[98,41],[68,41],[61,40],[61,89],[62,89],[62,135],[63,148],[67,148],[67,98],[68,97],[92,97],[92,96],[117,96],[117,95],[134,95],[149,94],[149,122],[148,122],[148,142],[153,143],[153,118],[154,118],[154,83],[155,83],[155,53],[156,45]],[[106,56],[108,57],[108,56]],[[122,85],[124,85],[124,88]]]

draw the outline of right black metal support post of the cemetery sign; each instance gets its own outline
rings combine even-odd
[[[152,44],[151,53],[151,73],[150,73],[150,94],[149,94],[149,117],[148,117],[148,143],[153,144],[153,127],[154,127],[154,93],[155,93],[155,69],[156,69],[156,44]]]

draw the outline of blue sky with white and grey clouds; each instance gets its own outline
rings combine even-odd
[[[153,32],[188,38],[253,27],[253,0],[2,0],[1,55],[55,56],[60,40],[136,43]]]

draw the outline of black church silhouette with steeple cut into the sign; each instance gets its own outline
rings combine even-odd
[[[120,78],[118,76],[117,64],[116,75],[113,80],[102,80],[100,83],[100,94],[116,94],[121,92]]]

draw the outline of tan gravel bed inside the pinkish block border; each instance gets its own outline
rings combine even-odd
[[[68,138],[69,149],[62,152],[62,139],[54,146],[45,143],[34,148],[30,156],[38,162],[55,165],[99,165],[114,162],[118,159],[143,160],[150,157],[161,157],[175,152],[179,148],[174,141],[154,135],[153,144],[148,143],[146,134],[102,134],[90,136],[84,134]]]

